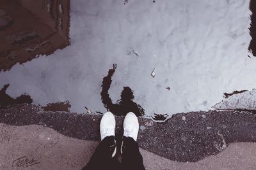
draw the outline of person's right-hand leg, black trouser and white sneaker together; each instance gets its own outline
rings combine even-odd
[[[122,169],[145,169],[143,158],[136,142],[139,131],[138,118],[129,112],[124,119],[124,137],[122,143]]]

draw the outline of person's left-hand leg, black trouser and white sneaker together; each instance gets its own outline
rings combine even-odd
[[[104,113],[100,120],[100,144],[97,146],[88,164],[83,167],[86,170],[115,169],[115,117],[111,112]]]

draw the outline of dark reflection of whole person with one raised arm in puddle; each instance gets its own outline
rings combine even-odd
[[[102,91],[100,93],[102,103],[108,111],[111,111],[114,115],[125,116],[128,112],[134,113],[137,117],[145,115],[143,108],[140,104],[136,104],[132,101],[134,95],[129,87],[124,87],[121,93],[121,99],[118,103],[113,104],[111,98],[109,97],[108,90],[111,85],[111,78],[115,73],[116,64],[113,64],[113,69],[109,69],[108,76],[103,78],[102,81]]]

